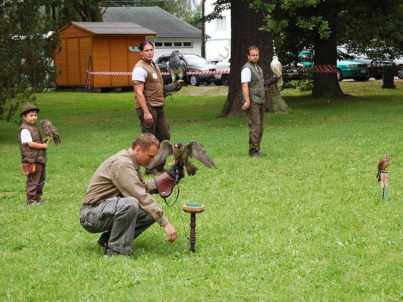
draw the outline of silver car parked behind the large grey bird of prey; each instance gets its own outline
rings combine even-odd
[[[209,63],[204,57],[201,57],[193,53],[179,54],[179,57],[186,63],[186,71],[215,71],[216,66]],[[167,72],[167,64],[171,58],[170,54],[164,54],[155,60],[155,63],[161,69],[161,72]],[[164,85],[172,82],[170,74],[162,76]],[[215,82],[214,74],[191,74],[187,75],[186,81],[191,86],[199,86],[200,83],[209,85],[211,82]]]

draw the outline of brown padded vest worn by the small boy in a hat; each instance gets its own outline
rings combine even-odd
[[[36,125],[30,125],[23,122],[20,126],[20,132],[18,133],[18,142],[20,143],[21,158],[24,164],[33,163],[46,163],[45,149],[33,149],[28,146],[28,144],[21,143],[21,130],[28,129],[31,132],[32,141],[37,143],[42,143],[41,132]]]

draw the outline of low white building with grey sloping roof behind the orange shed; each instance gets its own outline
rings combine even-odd
[[[146,37],[154,42],[154,61],[175,49],[201,55],[201,31],[159,7],[109,7],[104,19],[105,22],[135,22],[155,31],[156,39]]]

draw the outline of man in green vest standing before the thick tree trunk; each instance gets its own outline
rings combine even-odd
[[[268,88],[263,85],[263,71],[257,65],[259,49],[250,46],[248,49],[248,61],[242,67],[241,83],[243,105],[249,125],[249,156],[261,158],[260,141],[263,135],[264,122],[264,91]]]

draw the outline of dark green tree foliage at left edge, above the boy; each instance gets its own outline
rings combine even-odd
[[[52,30],[39,0],[0,0],[0,119],[10,120],[21,103],[34,101],[33,87],[40,90],[51,63],[57,35]]]

